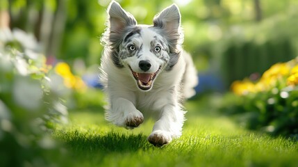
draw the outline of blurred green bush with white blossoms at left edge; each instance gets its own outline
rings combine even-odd
[[[67,120],[53,87],[58,80],[46,72],[45,58],[35,52],[30,35],[0,33],[6,37],[0,40],[1,166],[53,165],[61,150],[49,133],[54,124]]]

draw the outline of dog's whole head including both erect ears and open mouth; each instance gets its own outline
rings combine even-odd
[[[179,9],[175,5],[165,8],[154,17],[153,26],[138,25],[115,1],[108,15],[103,40],[113,63],[129,69],[140,90],[151,90],[158,74],[171,70],[179,59],[183,36]]]

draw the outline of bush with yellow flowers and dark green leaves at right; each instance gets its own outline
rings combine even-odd
[[[274,135],[298,135],[298,59],[276,63],[257,81],[244,79],[233,82],[236,102],[224,107],[230,113],[245,113],[244,122],[250,129]]]

